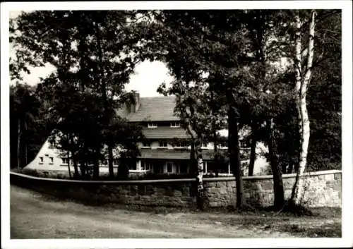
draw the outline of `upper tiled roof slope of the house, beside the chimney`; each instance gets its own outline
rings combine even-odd
[[[177,121],[174,115],[175,96],[141,97],[136,112],[127,115],[128,121]]]

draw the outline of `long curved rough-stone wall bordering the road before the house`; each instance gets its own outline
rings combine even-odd
[[[309,207],[340,207],[341,171],[318,171],[305,174],[304,205]],[[283,175],[285,198],[290,198],[295,174]],[[195,207],[194,179],[143,181],[73,181],[38,178],[11,173],[11,183],[42,193],[77,200],[116,202],[122,204]],[[236,203],[234,178],[205,178],[208,207],[227,207]],[[244,197],[251,205],[273,205],[272,176],[244,177]]]

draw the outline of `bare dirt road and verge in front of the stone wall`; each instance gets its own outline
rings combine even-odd
[[[338,237],[340,224],[337,216],[155,213],[112,206],[95,207],[11,186],[11,238]]]

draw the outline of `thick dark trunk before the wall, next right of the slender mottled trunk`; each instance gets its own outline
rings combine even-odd
[[[228,111],[228,152],[229,164],[235,176],[237,186],[237,207],[244,206],[244,188],[241,177],[241,164],[239,154],[239,134],[237,114],[232,107]]]

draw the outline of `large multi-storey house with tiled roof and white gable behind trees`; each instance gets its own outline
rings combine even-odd
[[[129,169],[131,173],[142,174],[153,172],[159,174],[187,174],[190,171],[190,150],[187,144],[189,134],[181,128],[179,118],[174,114],[174,96],[139,97],[136,94],[136,104],[126,105],[119,109],[118,114],[130,122],[137,122],[143,126],[145,140],[138,142],[140,157],[136,165]],[[240,141],[243,151],[249,150],[244,142]],[[219,150],[227,150],[227,142],[220,143]],[[213,143],[205,142],[202,145],[204,160],[204,173],[215,172],[213,163]],[[263,159],[256,160],[255,171]],[[71,164],[72,165],[72,164]],[[117,160],[114,167],[117,168]],[[261,166],[261,165],[260,165]],[[67,171],[68,157],[54,148],[47,140],[42,146],[37,157],[26,166],[30,169],[44,171]],[[217,164],[220,174],[231,174],[227,161]],[[70,167],[72,169],[72,167]],[[107,172],[107,161],[100,165],[101,172]]]

